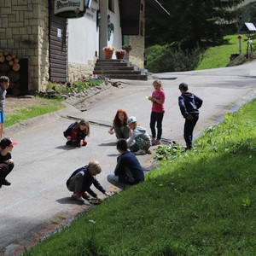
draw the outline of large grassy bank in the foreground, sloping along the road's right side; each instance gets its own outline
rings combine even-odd
[[[255,255],[256,101],[24,255]]]

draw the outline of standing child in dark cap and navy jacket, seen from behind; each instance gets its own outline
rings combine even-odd
[[[201,108],[202,100],[200,97],[189,92],[189,86],[186,83],[179,84],[178,89],[181,96],[178,97],[178,106],[185,119],[183,136],[187,145],[186,149],[192,148],[193,131],[199,119],[199,108]]]

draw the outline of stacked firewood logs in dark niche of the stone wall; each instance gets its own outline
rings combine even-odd
[[[20,90],[20,59],[9,52],[0,52],[0,76],[9,77],[9,90],[12,95],[19,96]]]

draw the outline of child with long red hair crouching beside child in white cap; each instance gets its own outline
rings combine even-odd
[[[108,133],[113,134],[115,132],[115,136],[119,138],[127,139],[130,136],[130,128],[127,125],[127,113],[124,109],[119,109],[114,116],[113,125],[109,129]]]

